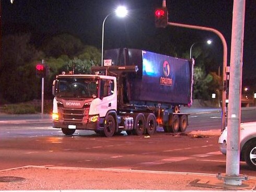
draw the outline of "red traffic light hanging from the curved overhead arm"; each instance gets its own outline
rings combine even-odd
[[[159,7],[155,10],[155,26],[166,27],[168,23],[168,10],[166,7]]]

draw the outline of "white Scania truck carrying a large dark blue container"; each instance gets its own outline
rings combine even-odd
[[[92,74],[57,75],[53,81],[53,127],[73,135],[76,129],[112,137],[184,132],[191,106],[193,59],[136,49],[104,51],[103,66]]]

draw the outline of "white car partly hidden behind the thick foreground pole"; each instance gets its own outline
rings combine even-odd
[[[219,148],[223,154],[227,152],[227,128],[220,135]],[[240,161],[245,161],[256,170],[256,122],[241,123],[240,126]]]

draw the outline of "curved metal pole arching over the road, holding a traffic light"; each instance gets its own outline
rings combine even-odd
[[[213,28],[208,28],[208,27],[201,27],[201,26],[192,26],[192,25],[185,25],[181,23],[174,23],[174,22],[168,22],[169,26],[177,26],[177,27],[183,27],[183,28],[190,28],[190,29],[199,29],[199,30],[204,30],[204,31],[211,31],[214,32],[218,35],[220,40],[222,40],[223,44],[223,86],[224,82],[227,80],[226,76],[226,68],[227,68],[227,42],[223,36],[222,33],[220,33],[218,30],[213,29]],[[222,130],[226,126],[226,89],[222,91]]]

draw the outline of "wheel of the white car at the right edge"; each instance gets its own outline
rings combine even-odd
[[[252,140],[246,144],[244,158],[246,164],[256,170],[256,141]]]

